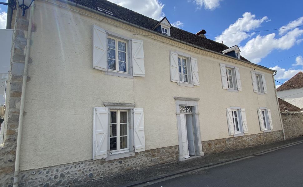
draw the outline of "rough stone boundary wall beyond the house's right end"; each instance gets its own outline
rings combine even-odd
[[[286,139],[303,136],[303,113],[281,112]]]

